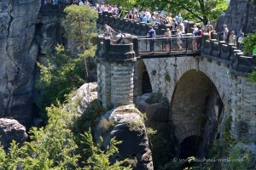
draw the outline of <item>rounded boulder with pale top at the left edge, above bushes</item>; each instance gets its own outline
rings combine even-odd
[[[3,148],[7,150],[12,140],[22,144],[27,139],[26,128],[15,119],[0,119],[0,136]]]

